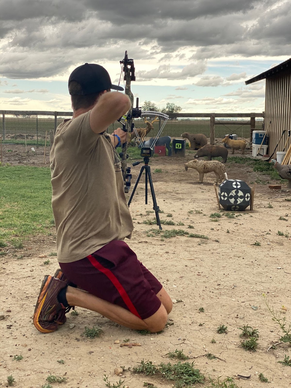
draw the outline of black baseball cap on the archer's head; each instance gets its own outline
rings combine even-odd
[[[95,63],[85,63],[74,69],[69,76],[68,86],[71,81],[78,82],[82,88],[74,95],[95,94],[107,89],[124,90],[121,86],[112,85],[108,71]]]

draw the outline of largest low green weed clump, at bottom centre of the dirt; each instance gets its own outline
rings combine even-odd
[[[152,361],[144,362],[142,360],[139,366],[133,368],[133,372],[145,374],[147,376],[161,375],[161,377],[173,381],[175,387],[182,388],[185,385],[193,385],[196,383],[202,383],[204,380],[203,374],[200,374],[199,369],[194,367],[194,362],[179,361],[177,364],[161,363],[159,365],[153,365]]]

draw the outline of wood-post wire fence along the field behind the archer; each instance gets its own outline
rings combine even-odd
[[[47,145],[50,145],[50,131],[55,131],[57,126],[64,119],[72,118],[72,112],[41,112],[41,111],[0,111],[0,135],[2,142],[9,144],[44,145],[47,135]],[[197,116],[195,116],[197,115]],[[256,115],[256,117],[254,117]],[[162,136],[168,135],[171,138],[181,138],[182,133],[203,133],[210,137],[211,122],[210,114],[186,113],[184,117],[170,118],[165,125]],[[190,116],[190,117],[189,117]],[[202,117],[206,116],[206,117]],[[153,121],[154,117],[148,117],[148,121]],[[253,120],[253,121],[252,121]],[[145,127],[142,119],[135,119],[135,127]],[[163,121],[156,121],[152,124],[154,129],[147,134],[147,138],[155,137]],[[109,126],[106,132],[112,133],[120,127],[116,121]],[[215,139],[219,140],[226,134],[236,134],[238,138],[249,139],[251,128],[261,130],[263,128],[263,114],[226,113],[225,117],[219,114],[215,117],[214,133]]]

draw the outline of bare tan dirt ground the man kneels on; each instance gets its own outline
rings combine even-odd
[[[4,151],[13,147],[13,152],[3,153],[3,163],[43,165],[43,147],[37,149],[39,157],[31,156],[31,152],[23,155],[23,146],[3,147]],[[239,156],[239,152],[236,155]],[[184,170],[184,163],[189,160],[191,154],[185,158],[151,159],[156,199],[164,211],[160,218],[185,224],[162,225],[163,230],[183,229],[209,239],[147,237],[147,230],[158,227],[142,223],[154,216],[146,213],[152,210],[152,203],[149,195],[149,204],[145,205],[142,179],[130,205],[135,230],[132,240],[126,241],[171,298],[178,301],[169,315],[173,326],[168,326],[161,334],[142,335],[95,312],[76,308],[79,315],[67,314],[67,323],[55,333],[39,333],[32,323],[39,287],[43,276],[54,274],[58,265],[57,258],[49,256],[56,251],[55,236],[34,236],[24,242],[23,249],[13,251],[10,248],[9,255],[0,258],[0,315],[4,316],[0,320],[0,386],[7,386],[7,376],[12,374],[16,387],[42,387],[47,376],[53,374],[68,378],[64,385],[68,388],[97,388],[105,386],[104,375],[116,383],[119,377],[114,375],[114,368],[122,366],[125,369],[123,385],[129,388],[140,388],[144,381],[168,388],[173,385],[158,378],[135,375],[128,368],[142,359],[151,360],[155,365],[168,362],[166,354],[175,349],[183,349],[205,375],[205,385],[197,386],[210,386],[208,376],[232,376],[241,388],[261,387],[260,372],[271,382],[270,388],[291,386],[290,367],[278,363],[285,354],[291,356],[291,350],[286,344],[268,350],[279,342],[281,331],[268,314],[262,296],[263,293],[268,295],[275,310],[281,310],[284,305],[287,308],[282,310],[284,317],[291,323],[291,240],[286,237],[291,234],[287,215],[291,215],[291,203],[284,201],[291,194],[270,191],[268,185],[256,185],[253,211],[247,209],[236,212],[238,217],[234,219],[222,216],[218,222],[212,222],[210,214],[218,211],[213,189],[215,176],[207,174],[204,183],[199,184],[196,171]],[[132,167],[133,184],[140,166]],[[154,172],[155,169],[161,169],[162,173]],[[226,169],[229,178],[247,183],[256,178],[268,180],[246,165],[227,163]],[[268,203],[273,207],[268,208]],[[167,213],[172,217],[166,217]],[[279,220],[280,216],[289,220]],[[194,229],[188,229],[188,225]],[[286,236],[277,235],[278,230]],[[256,241],[261,245],[254,246]],[[13,254],[23,255],[23,258],[17,260]],[[47,258],[50,264],[44,265]],[[200,307],[204,312],[199,312]],[[70,324],[74,324],[71,329]],[[227,334],[217,333],[217,327],[222,324],[228,327]],[[238,328],[246,324],[259,331],[256,352],[240,347]],[[100,326],[104,334],[93,340],[86,339],[81,336],[85,326]],[[211,343],[213,338],[216,343]],[[140,346],[121,347],[125,339]],[[120,344],[114,343],[116,340]],[[209,360],[204,357],[207,353],[219,359]],[[22,355],[23,359],[13,360],[14,355]],[[59,359],[64,360],[64,364],[59,364]],[[243,371],[251,374],[250,379],[237,378]]]

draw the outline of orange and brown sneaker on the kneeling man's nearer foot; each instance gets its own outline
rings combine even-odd
[[[66,310],[57,300],[57,295],[67,286],[66,282],[45,275],[33,314],[33,324],[41,333],[51,333],[57,330],[59,325],[57,320]]]

